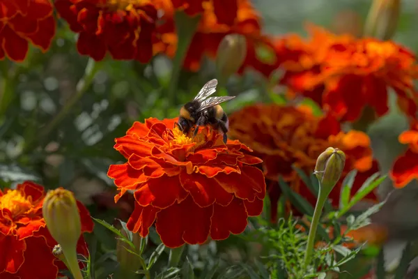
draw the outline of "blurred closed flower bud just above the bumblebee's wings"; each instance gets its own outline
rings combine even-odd
[[[247,56],[245,36],[234,33],[226,35],[217,50],[216,67],[218,80],[228,80],[236,73]]]

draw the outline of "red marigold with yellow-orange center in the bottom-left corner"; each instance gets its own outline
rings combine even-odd
[[[57,244],[42,218],[44,188],[31,181],[15,190],[0,190],[0,277],[5,279],[55,279],[65,264],[52,254]],[[93,221],[84,205],[77,201],[82,219],[82,232],[93,231]],[[88,255],[86,242],[80,236],[77,252]],[[82,263],[80,263],[82,265]]]

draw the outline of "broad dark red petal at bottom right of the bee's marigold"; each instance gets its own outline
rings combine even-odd
[[[214,240],[227,239],[229,234],[241,234],[247,227],[247,211],[244,201],[234,198],[228,206],[214,204],[210,237]]]

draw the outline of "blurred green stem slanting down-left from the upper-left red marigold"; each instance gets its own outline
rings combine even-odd
[[[77,83],[75,93],[67,100],[65,105],[61,108],[59,113],[56,114],[52,121],[49,122],[47,126],[45,126],[45,128],[43,128],[40,131],[37,140],[32,140],[26,144],[24,150],[22,151],[22,154],[33,149],[35,147],[33,146],[34,144],[47,137],[47,135],[49,135],[49,133],[51,133],[52,130],[54,130],[54,128],[56,128],[56,126],[58,126],[59,123],[63,121],[65,116],[67,116],[67,114],[70,113],[70,111],[72,110],[72,107],[74,107],[75,104],[77,104],[80,98],[82,98],[84,93],[87,91],[88,86],[90,86],[91,82],[93,82],[93,78],[95,77],[95,74],[98,73],[98,70],[100,70],[101,66],[102,63],[96,63],[93,59],[88,60],[84,76]]]

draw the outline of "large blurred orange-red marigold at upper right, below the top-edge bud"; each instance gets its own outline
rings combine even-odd
[[[392,41],[337,36],[315,26],[308,30],[309,40],[290,35],[276,42],[285,70],[280,83],[291,95],[312,98],[341,121],[356,121],[365,107],[386,114],[393,89],[401,109],[415,116],[418,67],[412,52]]]

